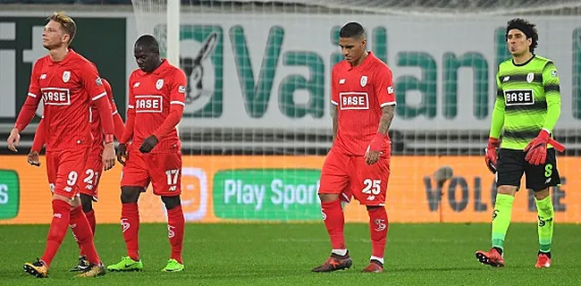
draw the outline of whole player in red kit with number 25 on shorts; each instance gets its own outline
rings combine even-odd
[[[388,228],[384,205],[392,145],[387,130],[395,107],[392,71],[366,50],[365,30],[358,22],[341,28],[339,46],[345,60],[333,66],[333,147],[324,161],[319,188],[324,225],[333,250],[313,272],[351,266],[341,207],[341,199],[349,202],[351,196],[365,205],[369,214],[372,254],[363,272],[382,272]]]

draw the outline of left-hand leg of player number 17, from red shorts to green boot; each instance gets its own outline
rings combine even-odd
[[[130,151],[131,152],[131,151]],[[123,166],[121,179],[121,226],[127,256],[108,271],[141,271],[143,262],[139,257],[139,195],[149,185],[146,164],[139,152],[131,152]]]

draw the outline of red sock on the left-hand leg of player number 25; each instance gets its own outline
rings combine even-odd
[[[345,236],[343,235],[345,217],[343,216],[341,200],[321,202],[321,212],[323,213],[324,226],[329,232],[333,249],[346,249]]]

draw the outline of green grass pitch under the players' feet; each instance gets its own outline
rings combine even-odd
[[[98,215],[98,214],[97,214]],[[98,219],[98,216],[97,216]],[[0,226],[1,285],[581,285],[581,225],[556,224],[552,267],[535,269],[535,224],[510,225],[504,268],[480,265],[490,224],[390,225],[384,273],[360,273],[371,254],[366,224],[345,227],[353,265],[335,273],[310,270],[330,254],[323,223],[198,224],[186,227],[183,273],[161,273],[169,253],[167,227],[142,224],[139,273],[75,278],[78,249],[68,234],[49,272],[37,279],[22,264],[42,255],[48,225]],[[106,264],[125,255],[121,226],[101,224],[97,250]]]

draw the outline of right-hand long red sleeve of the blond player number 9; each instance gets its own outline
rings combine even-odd
[[[107,93],[103,87],[103,80],[99,78],[99,73],[94,65],[87,64],[83,70],[80,74],[83,87],[87,90],[88,95],[93,100],[93,104],[99,111],[101,124],[103,130],[105,130],[105,143],[108,143],[113,140],[114,127],[111,105],[109,105],[109,100],[106,97]]]

